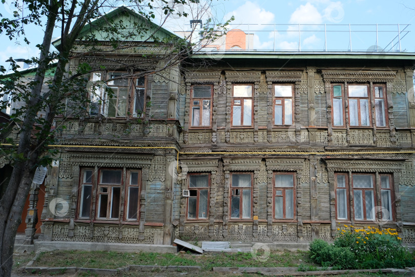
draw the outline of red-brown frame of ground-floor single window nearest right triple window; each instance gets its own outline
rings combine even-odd
[[[289,187],[289,186],[279,186],[277,187],[277,175],[291,175],[293,177],[293,186]],[[295,172],[274,172],[273,174],[273,221],[276,222],[292,222],[293,220],[296,219],[297,217],[297,213],[296,213],[296,203],[297,203],[297,194],[296,194],[296,173]],[[287,217],[286,214],[286,205],[287,205],[287,199],[286,199],[286,192],[292,190],[293,192],[293,201],[292,201],[292,208],[293,208],[293,216],[292,217]],[[277,197],[281,197],[282,199],[282,217],[278,217],[277,218],[277,214],[276,214],[276,210],[277,210],[277,206],[276,206],[276,200]]]

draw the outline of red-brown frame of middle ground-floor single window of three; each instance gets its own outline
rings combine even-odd
[[[250,175],[251,176],[251,186],[250,187],[240,187],[240,186],[234,186],[233,183],[233,176],[234,175]],[[229,218],[230,221],[240,221],[240,220],[252,220],[253,215],[253,191],[254,191],[254,174],[252,172],[231,172],[230,175],[231,179],[231,186],[230,186],[230,205],[229,205]],[[244,191],[250,191],[250,216],[249,217],[243,217],[243,193]],[[241,193],[242,191],[242,193]],[[239,210],[238,210],[238,217],[234,216],[232,217],[232,197],[233,196],[239,196]]]

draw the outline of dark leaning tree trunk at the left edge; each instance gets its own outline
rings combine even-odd
[[[39,111],[39,96],[44,83],[45,72],[49,64],[49,49],[57,11],[58,3],[51,0],[45,36],[34,78],[36,84],[31,89],[31,97],[29,103],[27,103],[27,110],[22,123],[22,129],[19,133],[20,137],[17,154],[23,154],[24,159],[19,159],[14,164],[6,193],[0,200],[0,277],[9,277],[11,275],[14,239],[17,227],[22,221],[22,211],[26,197],[30,191],[34,167],[38,161],[39,150],[35,150],[31,153],[31,131],[36,114]]]

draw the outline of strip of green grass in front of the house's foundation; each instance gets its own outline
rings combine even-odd
[[[113,251],[52,251],[41,253],[33,266],[88,267],[116,269],[126,265],[200,266],[202,270],[212,267],[298,267],[316,266],[308,251],[272,251],[265,262],[255,260],[251,253],[204,253],[159,254],[122,253]]]

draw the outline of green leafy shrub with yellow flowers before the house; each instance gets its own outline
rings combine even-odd
[[[415,265],[412,254],[401,245],[402,239],[395,229],[350,228],[337,229],[340,233],[333,245],[321,240],[313,241],[310,253],[315,262],[342,269],[404,268]]]

